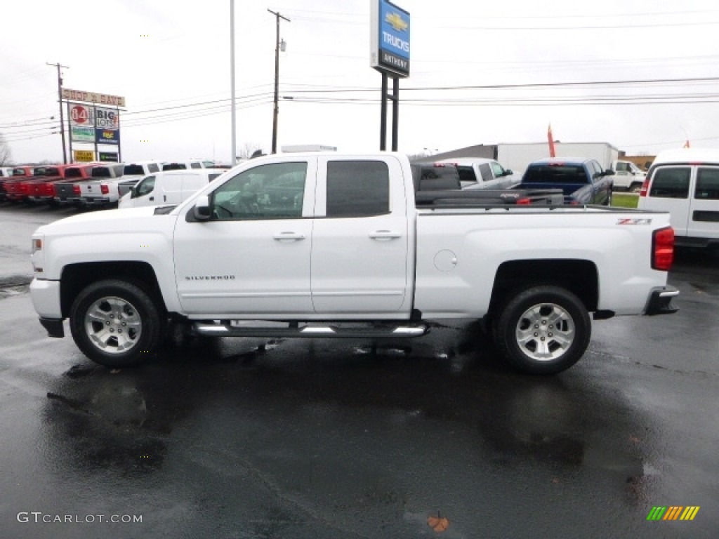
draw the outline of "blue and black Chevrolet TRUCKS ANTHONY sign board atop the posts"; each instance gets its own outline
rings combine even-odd
[[[372,0],[370,65],[392,77],[409,76],[409,12],[387,0]]]

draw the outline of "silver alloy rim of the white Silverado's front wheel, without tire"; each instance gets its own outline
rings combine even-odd
[[[142,318],[132,303],[108,296],[96,300],[85,314],[85,331],[96,348],[121,354],[137,345],[142,335]]]

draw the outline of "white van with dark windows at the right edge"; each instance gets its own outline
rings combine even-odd
[[[647,172],[638,208],[669,211],[677,245],[719,246],[719,149],[660,152]]]

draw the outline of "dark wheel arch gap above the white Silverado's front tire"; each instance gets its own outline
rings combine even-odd
[[[83,288],[92,282],[107,279],[131,282],[150,295],[158,308],[165,310],[165,302],[162,300],[157,275],[147,262],[81,262],[68,264],[63,268],[63,274],[60,277],[60,308],[63,318],[70,315],[70,307]]]

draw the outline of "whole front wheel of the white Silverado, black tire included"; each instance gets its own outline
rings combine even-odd
[[[75,344],[106,367],[132,367],[155,355],[162,322],[150,295],[124,280],[93,282],[70,308]]]

